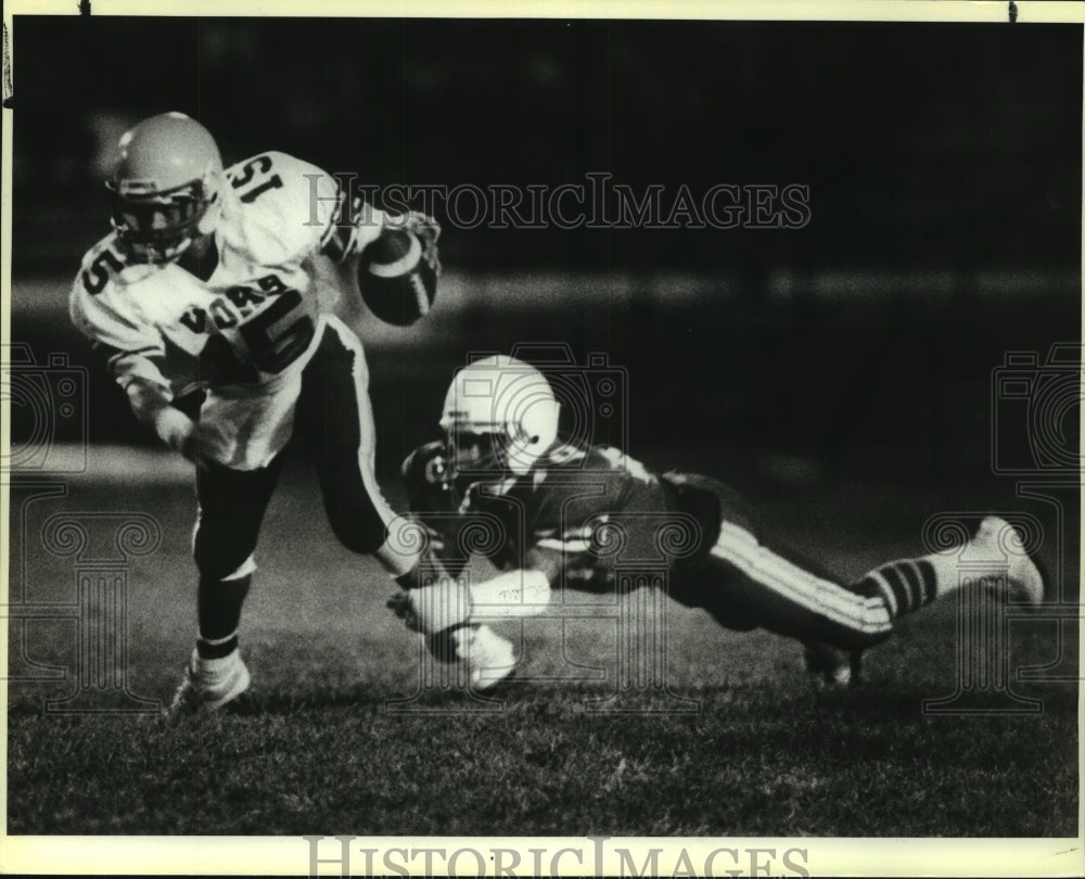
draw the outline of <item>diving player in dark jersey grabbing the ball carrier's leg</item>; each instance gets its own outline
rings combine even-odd
[[[892,561],[847,584],[766,546],[750,510],[718,480],[654,474],[620,449],[564,443],[558,419],[538,370],[484,358],[448,388],[444,440],[404,462],[408,504],[433,558],[399,578],[405,591],[388,606],[426,636],[434,655],[465,663],[476,690],[516,663],[514,646],[487,619],[545,614],[560,588],[637,588],[646,564],[666,570],[672,598],[723,626],[797,639],[818,687],[857,679],[863,650],[966,581],[985,595],[1043,600],[1044,577],[1021,533],[998,517],[945,551]],[[500,573],[472,582],[461,572],[480,551]],[[622,556],[636,562],[625,562],[633,574]]]

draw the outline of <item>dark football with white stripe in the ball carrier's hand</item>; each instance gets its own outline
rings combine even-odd
[[[358,291],[378,318],[409,327],[433,305],[437,275],[423,258],[422,243],[413,232],[385,228],[362,253]]]

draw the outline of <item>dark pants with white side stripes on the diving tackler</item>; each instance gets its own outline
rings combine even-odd
[[[717,537],[706,553],[675,571],[672,598],[704,608],[720,625],[740,632],[766,628],[847,650],[889,637],[892,617],[879,594],[842,585],[794,552],[763,546],[744,505],[723,483],[680,479],[681,506],[702,522],[714,513],[717,520],[706,533]]]

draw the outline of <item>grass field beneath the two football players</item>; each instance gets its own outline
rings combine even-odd
[[[613,623],[570,622],[562,633],[551,620],[524,625],[522,672],[565,679],[476,701],[425,679],[416,640],[384,609],[388,582],[336,545],[312,513],[306,476],[289,470],[272,502],[246,604],[252,713],[176,725],[49,714],[46,700],[71,692],[72,675],[20,676],[29,661],[71,670],[75,623],[12,625],[9,833],[1077,833],[1076,680],[1014,683],[1043,699],[1037,714],[922,712],[924,699],[955,690],[952,601],[902,623],[868,653],[865,684],[852,691],[817,697],[794,645],[724,632],[671,604],[666,688],[591,702],[615,692]],[[959,508],[915,486],[906,502],[885,496],[884,486],[820,486],[766,496],[762,513],[800,546],[831,548],[829,561],[851,576],[911,553],[917,522]],[[195,625],[190,487],[166,479],[122,492],[79,479],[65,497],[20,504],[13,517],[25,513],[29,536],[13,534],[12,584],[28,601],[75,595],[76,561],[41,546],[54,512],[145,512],[162,524],[161,547],[128,571],[128,686],[168,702]],[[1060,671],[1076,676],[1069,629]],[[1056,623],[1014,622],[1010,634],[1011,667],[1057,658]],[[1008,702],[988,691],[969,704]]]

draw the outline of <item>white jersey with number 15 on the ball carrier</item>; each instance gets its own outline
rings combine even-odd
[[[71,313],[111,354],[122,387],[153,382],[168,398],[205,388],[204,453],[250,470],[290,438],[301,371],[339,300],[357,295],[356,276],[327,255],[342,255],[330,246],[341,199],[333,177],[278,152],[226,176],[218,264],[206,281],[176,264],[128,265],[111,233],[84,258]],[[361,226],[354,252],[379,231],[379,221]]]

